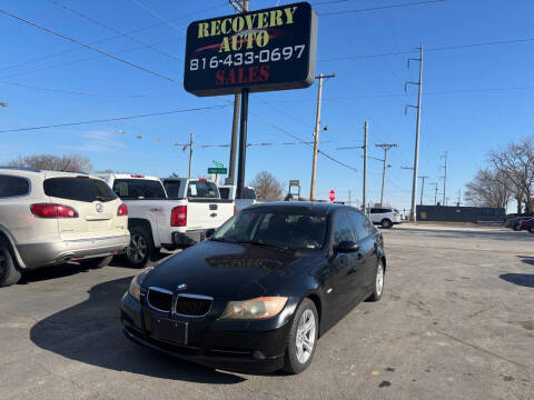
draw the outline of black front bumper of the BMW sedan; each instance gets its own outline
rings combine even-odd
[[[142,300],[142,299],[141,299]],[[141,306],[129,293],[122,297],[121,322],[125,336],[131,341],[166,354],[210,368],[256,373],[271,372],[284,366],[290,323],[269,329],[253,327],[256,321],[234,321],[231,328],[220,328],[211,314],[188,320],[187,344],[162,341],[152,336],[150,319],[159,318],[148,306]],[[172,317],[176,318],[176,317]],[[267,324],[265,324],[267,322]],[[275,321],[271,321],[276,326]]]

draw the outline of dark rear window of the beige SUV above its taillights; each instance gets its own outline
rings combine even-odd
[[[43,188],[44,194],[60,199],[86,202],[117,199],[117,194],[106,182],[87,177],[49,178],[44,180]]]

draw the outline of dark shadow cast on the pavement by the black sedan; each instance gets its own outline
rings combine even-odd
[[[68,359],[116,371],[199,383],[245,380],[128,341],[119,321],[119,299],[130,280],[121,278],[92,287],[86,301],[37,322],[30,330],[31,341]]]

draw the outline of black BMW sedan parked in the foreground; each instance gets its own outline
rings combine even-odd
[[[141,270],[122,297],[132,341],[208,367],[304,371],[317,339],[379,300],[383,238],[353,207],[274,202]]]

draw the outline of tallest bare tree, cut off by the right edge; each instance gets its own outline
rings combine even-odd
[[[516,188],[518,208],[525,202],[526,212],[534,210],[532,190],[534,184],[534,137],[508,143],[504,149],[488,154],[491,166]],[[520,198],[521,197],[521,198]]]

